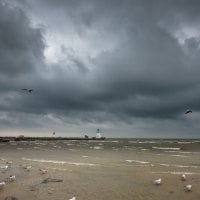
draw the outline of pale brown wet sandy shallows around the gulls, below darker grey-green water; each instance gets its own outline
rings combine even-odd
[[[73,147],[73,151],[68,149],[68,152],[60,148],[46,152],[44,149],[3,149],[0,166],[7,165],[10,160],[12,164],[7,170],[0,169],[0,181],[7,181],[11,174],[16,176],[16,180],[6,182],[4,189],[0,190],[0,200],[7,196],[19,200],[66,200],[73,196],[76,200],[199,199],[199,163],[191,165],[199,154],[175,157],[158,155],[160,152],[157,151],[146,152],[142,148],[116,149],[119,146],[106,150]],[[52,156],[47,157],[50,152]],[[28,165],[32,166],[31,169],[24,169]],[[42,174],[40,169],[46,169],[47,173]],[[182,173],[186,174],[186,181],[181,180]],[[157,178],[162,178],[161,185],[153,184]],[[42,183],[45,179],[53,181]],[[185,190],[187,184],[193,186],[191,192]]]

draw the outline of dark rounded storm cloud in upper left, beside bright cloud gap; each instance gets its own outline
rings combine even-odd
[[[15,76],[35,70],[44,44],[40,29],[32,29],[20,9],[0,4],[0,72]]]

